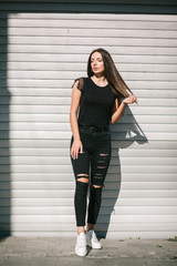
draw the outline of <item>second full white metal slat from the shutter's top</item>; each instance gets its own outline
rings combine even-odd
[[[7,34],[8,33],[8,34]],[[97,37],[102,38],[103,35],[107,38],[163,38],[163,39],[175,39],[177,37],[177,32],[173,31],[170,29],[164,31],[164,30],[154,30],[154,29],[136,29],[136,30],[129,30],[129,29],[86,29],[86,31],[83,31],[83,29],[67,29],[67,28],[53,28],[52,31],[50,28],[15,28],[15,27],[9,27],[8,32],[4,28],[1,28],[0,35],[7,35],[8,37],[20,37],[20,35],[37,35],[37,37]]]

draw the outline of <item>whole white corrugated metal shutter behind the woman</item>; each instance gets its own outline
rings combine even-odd
[[[8,31],[1,17],[1,232],[75,236],[71,85],[102,47],[138,105],[112,126],[97,231],[117,238],[175,236],[177,17],[11,13]]]

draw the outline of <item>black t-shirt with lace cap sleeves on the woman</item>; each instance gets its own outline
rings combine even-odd
[[[96,85],[91,78],[80,78],[77,89],[82,92],[79,110],[79,125],[107,126],[115,98],[110,84]]]

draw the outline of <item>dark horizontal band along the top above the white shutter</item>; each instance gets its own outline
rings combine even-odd
[[[145,4],[145,2],[140,4],[137,1],[135,3],[0,1],[0,10],[1,12],[177,14],[177,1],[169,1],[168,4],[162,1],[162,3],[159,1],[157,4]]]

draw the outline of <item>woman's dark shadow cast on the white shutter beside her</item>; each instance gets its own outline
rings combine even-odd
[[[127,124],[124,125],[124,131],[117,131],[116,127],[121,123],[111,125],[112,133],[112,160],[108,168],[108,173],[105,180],[105,190],[102,196],[102,207],[100,216],[97,218],[96,232],[100,238],[106,238],[111,216],[114,215],[114,207],[117,202],[121,183],[122,183],[122,171],[119,160],[119,149],[128,149],[134,142],[142,145],[148,142],[140,126],[136,122],[131,109],[127,106],[126,110]],[[125,117],[125,116],[124,116]],[[124,121],[124,117],[122,120]]]

